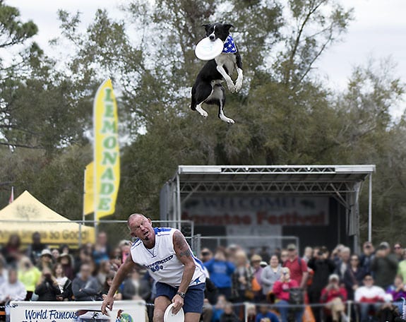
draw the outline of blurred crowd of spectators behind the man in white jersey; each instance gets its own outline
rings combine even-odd
[[[113,247],[112,247],[113,246]],[[131,241],[109,244],[99,232],[95,244],[72,251],[67,245],[49,248],[40,234],[23,249],[11,235],[1,249],[0,303],[26,301],[101,301],[114,274],[130,254]],[[391,247],[366,242],[360,254],[338,245],[306,247],[299,256],[296,245],[286,249],[243,249],[238,245],[202,249],[200,257],[210,278],[206,282],[204,322],[244,321],[239,305],[246,306],[248,321],[346,320],[351,314],[367,321],[385,309],[402,314],[406,297],[406,256],[400,243]],[[153,303],[154,282],[146,270],[134,270],[115,294],[117,300],[144,299]],[[318,305],[311,305],[318,304]],[[310,305],[306,307],[306,305]]]

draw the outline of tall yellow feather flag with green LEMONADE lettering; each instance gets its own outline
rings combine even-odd
[[[109,79],[97,90],[93,117],[95,218],[99,220],[114,213],[120,184],[117,102]]]

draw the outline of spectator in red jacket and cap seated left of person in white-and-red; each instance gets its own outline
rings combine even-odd
[[[333,321],[340,321],[340,317],[347,321],[345,316],[345,305],[347,301],[347,290],[339,285],[340,278],[337,274],[331,274],[328,278],[328,285],[321,291],[320,302],[325,303],[326,314],[331,316]]]

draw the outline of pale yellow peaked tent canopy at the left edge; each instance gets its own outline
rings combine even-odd
[[[0,210],[0,244],[6,244],[11,234],[17,234],[22,244],[32,243],[32,234],[39,232],[44,244],[78,245],[95,242],[95,229],[85,227],[59,215],[38,201],[28,191]]]

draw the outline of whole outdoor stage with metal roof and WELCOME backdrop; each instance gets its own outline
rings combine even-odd
[[[203,236],[289,235],[301,246],[357,249],[359,193],[367,179],[371,240],[374,172],[375,165],[179,165],[162,187],[160,220],[193,220]]]

